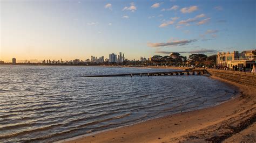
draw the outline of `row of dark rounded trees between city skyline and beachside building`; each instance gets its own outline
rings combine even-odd
[[[151,62],[153,65],[214,66],[216,64],[216,55],[191,54],[187,58],[186,56],[180,55],[180,53],[171,53],[166,56],[154,55]]]

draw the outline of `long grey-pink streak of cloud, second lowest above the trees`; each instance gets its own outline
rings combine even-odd
[[[147,46],[149,46],[149,47],[184,46],[184,45],[190,44],[191,42],[195,42],[195,41],[197,41],[197,39],[173,40],[173,41],[169,41],[169,42],[157,42],[157,43],[148,42]]]

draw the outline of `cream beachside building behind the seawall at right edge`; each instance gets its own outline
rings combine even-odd
[[[232,68],[233,66],[252,68],[256,60],[256,49],[250,51],[218,52],[217,65]]]

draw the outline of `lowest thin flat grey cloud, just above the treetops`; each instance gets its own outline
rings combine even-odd
[[[213,54],[213,53],[217,53],[219,50],[217,49],[197,49],[197,50],[194,50],[194,51],[180,51],[180,52],[177,52],[177,53],[188,53],[188,54],[203,54],[203,53],[209,53],[209,54]],[[159,54],[170,54],[170,53],[173,53],[171,51],[156,51],[156,53],[159,53]]]

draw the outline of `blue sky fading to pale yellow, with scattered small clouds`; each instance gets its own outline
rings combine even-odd
[[[256,1],[0,0],[0,60],[127,59],[256,47]]]

